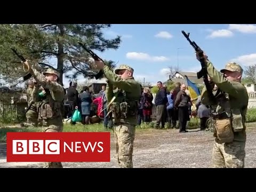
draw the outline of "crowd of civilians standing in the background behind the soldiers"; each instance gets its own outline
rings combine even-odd
[[[187,122],[190,121],[191,117],[191,106],[194,103],[196,114],[193,115],[200,118],[200,130],[206,129],[206,121],[210,117],[210,111],[208,106],[201,103],[200,96],[194,100],[191,99],[188,87],[179,82],[175,83],[175,88],[170,91],[162,82],[157,82],[157,87],[154,104],[153,94],[149,87],[142,88],[141,98],[138,101],[138,125],[141,125],[142,122],[149,123],[152,121],[153,106],[155,105],[156,129],[164,129],[166,122],[168,122],[168,128],[177,129],[179,127],[179,132],[185,133],[187,132]],[[66,94],[66,106],[68,107],[66,116],[71,118],[77,109],[81,111],[82,124],[103,121],[105,129],[111,129],[113,124],[111,119],[107,117],[106,86],[102,85],[101,91],[97,95],[90,92],[87,86],[84,86],[80,93],[76,89],[77,83],[71,82]],[[95,121],[95,119],[97,120]],[[76,124],[76,122],[71,121],[71,124]]]

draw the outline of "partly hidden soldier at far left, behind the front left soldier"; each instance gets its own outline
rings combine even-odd
[[[29,79],[28,89],[27,89],[27,102],[28,102],[28,111],[26,113],[27,122],[23,123],[25,126],[37,126],[37,109],[36,103],[33,101],[33,90],[34,90],[34,78]]]

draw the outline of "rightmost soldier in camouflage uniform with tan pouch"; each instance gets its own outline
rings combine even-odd
[[[197,59],[199,57],[197,55]],[[242,168],[244,167],[245,142],[246,142],[246,111],[248,94],[241,83],[243,69],[234,62],[226,64],[220,72],[204,56],[207,73],[212,87],[218,87],[214,97],[217,102],[209,100],[207,90],[202,91],[202,103],[204,105],[217,106],[214,119],[214,147],[213,167]]]

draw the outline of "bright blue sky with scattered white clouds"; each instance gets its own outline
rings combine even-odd
[[[256,25],[240,24],[116,24],[105,31],[105,37],[122,36],[118,50],[98,53],[102,59],[114,60],[117,65],[127,64],[134,68],[134,77],[153,85],[168,79],[170,67],[183,72],[201,69],[193,47],[181,34],[190,33],[190,39],[203,49],[217,69],[228,61],[242,66],[256,64]],[[179,56],[178,56],[179,55]],[[78,78],[78,82],[83,78]],[[64,81],[65,86],[68,79]]]

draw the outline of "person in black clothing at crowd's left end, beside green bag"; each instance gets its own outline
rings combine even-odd
[[[79,97],[78,97],[78,91],[76,90],[77,83],[72,82],[69,85],[70,86],[68,87],[68,90],[67,90],[67,99],[68,99],[70,112],[71,112],[69,116],[72,116],[76,107],[79,106]],[[71,121],[71,124],[75,124],[75,122]]]

